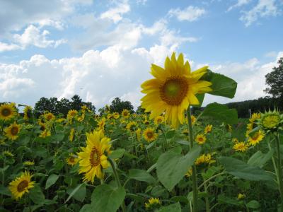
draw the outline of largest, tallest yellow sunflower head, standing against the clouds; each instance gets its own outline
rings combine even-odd
[[[209,88],[212,83],[200,81],[204,73],[207,66],[191,72],[189,62],[184,64],[183,54],[176,59],[174,52],[171,59],[166,58],[165,69],[152,64],[151,74],[155,78],[141,84],[141,92],[146,93],[141,98],[141,107],[151,112],[151,119],[165,111],[166,122],[173,127],[183,124],[187,107],[200,103],[195,95],[212,90]]]

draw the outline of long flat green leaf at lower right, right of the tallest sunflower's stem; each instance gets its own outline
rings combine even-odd
[[[220,157],[219,162],[224,165],[226,172],[241,179],[253,181],[272,179],[272,177],[260,167],[248,165],[236,158]]]

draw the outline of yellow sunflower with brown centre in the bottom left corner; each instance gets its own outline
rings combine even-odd
[[[9,189],[16,200],[21,199],[23,194],[28,193],[29,189],[34,187],[35,181],[30,181],[31,177],[33,177],[33,175],[25,171],[21,177],[17,177],[10,182]]]

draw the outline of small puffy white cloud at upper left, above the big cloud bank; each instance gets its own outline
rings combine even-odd
[[[22,35],[13,35],[13,40],[18,43],[22,49],[25,49],[30,45],[40,48],[57,47],[66,42],[66,40],[48,40],[47,35],[49,34],[50,33],[47,30],[40,32],[39,28],[36,28],[34,25],[29,25]]]

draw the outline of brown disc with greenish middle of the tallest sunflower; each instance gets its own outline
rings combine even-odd
[[[188,84],[185,78],[168,78],[159,88],[161,100],[168,105],[180,105],[187,95]]]

